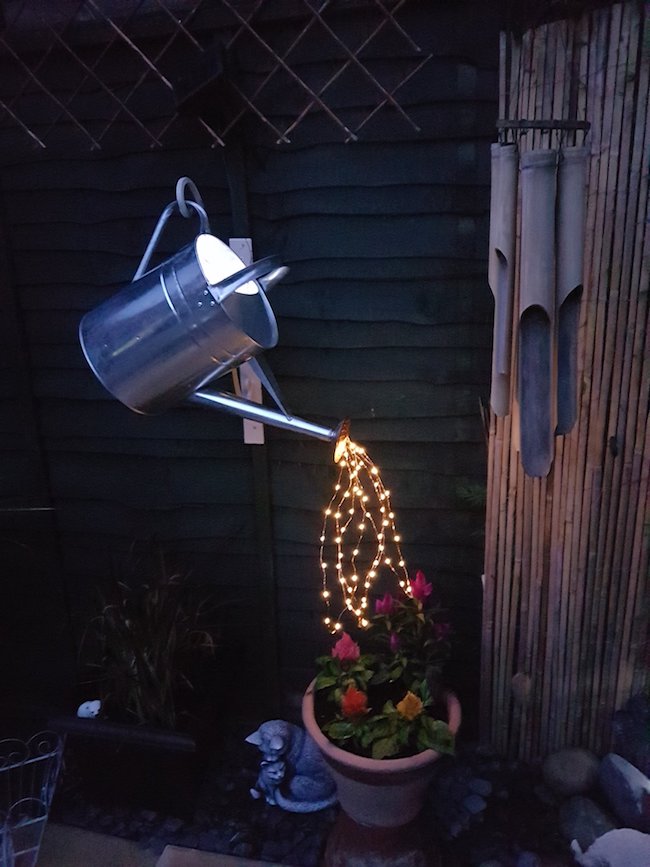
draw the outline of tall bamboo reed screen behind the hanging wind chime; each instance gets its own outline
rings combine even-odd
[[[523,758],[607,749],[648,682],[648,17],[628,2],[501,38],[501,118],[590,124],[512,134],[520,154],[589,148],[577,422],[539,478],[516,399],[490,423],[482,730]]]

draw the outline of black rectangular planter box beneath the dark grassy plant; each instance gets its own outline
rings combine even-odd
[[[85,801],[192,817],[203,762],[191,735],[70,716],[48,726],[65,735],[64,768]]]

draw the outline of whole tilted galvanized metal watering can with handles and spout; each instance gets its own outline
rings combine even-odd
[[[176,210],[189,216],[188,206],[198,214],[200,233],[147,270],[165,223]],[[287,412],[272,375],[256,359],[278,341],[265,293],[286,271],[274,258],[244,266],[211,234],[202,204],[177,199],[163,210],[133,282],[81,320],[79,339],[86,360],[102,385],[135,412],[163,412],[189,401],[336,440],[339,428],[321,427]],[[204,390],[208,382],[246,361],[278,409]]]

